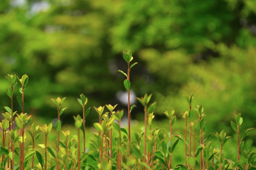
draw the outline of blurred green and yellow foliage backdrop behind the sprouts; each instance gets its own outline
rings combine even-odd
[[[255,0],[1,0],[1,112],[10,107],[7,74],[29,76],[25,111],[39,120],[57,117],[50,99],[60,96],[68,107],[62,122],[73,124],[72,116],[82,115],[81,93],[86,108],[118,104],[126,111],[122,50],[139,63],[130,72],[133,123],[143,120],[135,97],[145,93],[157,101],[156,125],[168,127],[168,108],[184,123],[189,107],[182,95],[193,92],[193,108],[204,106],[207,133],[234,135],[230,120],[240,112],[242,133],[255,127]],[[18,82],[14,98],[19,88]],[[21,111],[16,100],[14,109]],[[87,126],[98,121],[93,108],[86,119]],[[256,145],[255,136],[248,146]]]

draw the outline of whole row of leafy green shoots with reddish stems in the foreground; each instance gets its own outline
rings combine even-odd
[[[244,138],[252,129],[248,129],[242,137],[240,137],[240,125],[243,119],[241,114],[235,115],[235,122],[231,121],[231,127],[236,131],[238,138],[237,145],[237,160],[233,161],[224,157],[223,146],[230,139],[226,137],[225,131],[220,133],[210,133],[205,138],[204,129],[206,126],[205,112],[202,105],[192,109],[194,96],[184,95],[184,99],[188,102],[189,111],[182,113],[185,119],[185,130],[172,131],[172,127],[176,122],[175,111],[168,109],[164,114],[170,121],[170,129],[168,130],[168,143],[165,141],[164,129],[152,129],[154,109],[156,102],[150,104],[152,94],[145,94],[141,98],[137,98],[138,102],[144,107],[144,131],[139,133],[134,132],[135,140],[131,141],[130,132],[130,113],[136,107],[130,107],[130,69],[137,63],[130,64],[132,61],[132,53],[124,52],[124,60],[128,63],[127,74],[118,70],[126,76],[124,80],[124,87],[128,90],[128,132],[121,127],[121,120],[124,115],[124,110],[114,111],[115,106],[106,105],[108,112],[104,113],[105,106],[94,107],[98,113],[99,122],[94,123],[94,127],[98,133],[94,133],[94,139],[89,139],[90,149],[86,148],[85,123],[86,116],[90,112],[90,107],[86,109],[88,99],[84,94],[80,95],[78,102],[82,106],[82,117],[77,115],[74,117],[74,125],[77,129],[77,139],[70,138],[70,131],[61,131],[60,115],[66,108],[61,109],[61,105],[65,98],[58,97],[52,101],[56,104],[58,110],[58,121],[56,122],[56,148],[47,145],[47,137],[52,130],[52,123],[36,126],[35,123],[29,125],[32,120],[31,115],[24,111],[24,93],[25,87],[28,83],[28,76],[25,74],[19,79],[21,88],[19,89],[22,96],[17,96],[18,103],[22,108],[22,112],[13,109],[13,89],[16,86],[16,75],[9,75],[6,77],[10,82],[11,88],[7,88],[6,93],[11,99],[11,108],[4,107],[5,113],[2,113],[5,119],[0,123],[2,128],[2,145],[0,146],[0,170],[160,170],[160,169],[174,169],[174,170],[253,170],[256,169],[256,152],[250,149],[248,152],[243,150]],[[194,130],[194,112],[198,114],[198,121],[200,124],[200,131]],[[14,118],[17,125],[14,128]],[[189,121],[189,129],[187,125]],[[149,126],[149,127],[148,127]],[[117,131],[117,136],[112,136],[112,129]],[[38,130],[42,131],[38,133]],[[26,131],[25,131],[26,130]],[[80,132],[82,131],[83,140],[80,141]],[[187,131],[189,139],[187,139]],[[65,139],[60,139],[60,132],[65,136]],[[32,146],[24,148],[26,142],[26,133],[32,137]],[[196,134],[199,134],[199,139]],[[41,135],[44,135],[44,143],[37,143]],[[220,142],[220,148],[212,148],[210,137],[215,136]],[[193,145],[192,145],[192,140]],[[6,143],[8,141],[8,143]],[[175,156],[174,149],[179,141],[184,143],[184,164],[172,165],[172,157]],[[196,149],[196,143],[199,147]],[[82,147],[80,145],[82,143]],[[44,154],[40,153],[35,145],[44,149]],[[187,150],[188,147],[188,150]],[[193,149],[193,151],[192,151]],[[188,152],[188,153],[187,153]],[[240,160],[241,154],[245,157],[245,161]],[[43,156],[44,155],[44,156]],[[200,155],[200,156],[199,156]],[[34,157],[37,158],[38,164],[34,163]],[[90,164],[90,161],[95,162]]]

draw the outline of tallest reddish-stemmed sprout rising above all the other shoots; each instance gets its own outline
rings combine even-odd
[[[123,54],[123,58],[126,61],[126,63],[128,64],[128,71],[127,74],[124,73],[121,70],[118,70],[119,72],[121,72],[122,74],[124,74],[126,76],[126,80],[124,80],[124,87],[126,88],[126,90],[128,90],[128,139],[129,139],[129,143],[131,143],[131,133],[130,133],[130,69],[138,63],[133,63],[130,65],[130,62],[133,60],[132,57],[132,52],[129,50],[127,53],[124,52]],[[130,145],[129,145],[129,156],[130,156],[131,152],[130,152]]]

